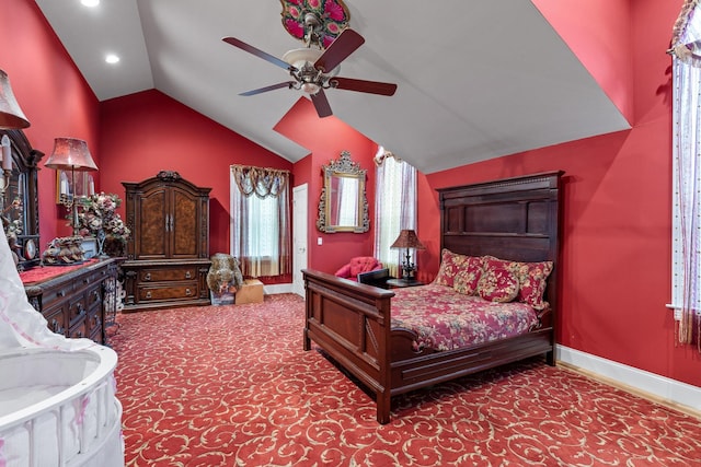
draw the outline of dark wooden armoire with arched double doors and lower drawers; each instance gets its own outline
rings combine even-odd
[[[123,182],[131,235],[124,311],[209,304],[209,191],[177,172]]]

